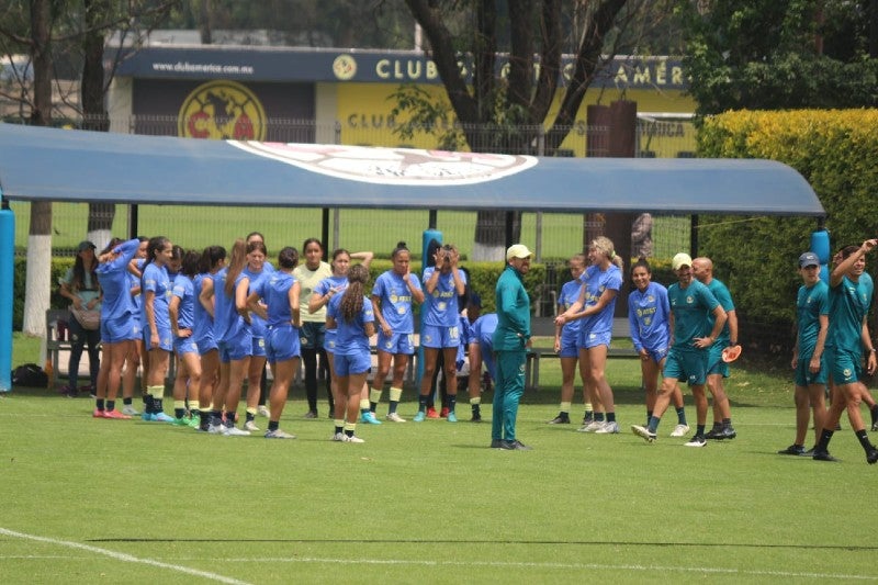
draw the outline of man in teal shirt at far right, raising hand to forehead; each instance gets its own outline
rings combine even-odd
[[[845,409],[851,427],[866,451],[866,462],[873,464],[878,461],[878,449],[869,441],[859,412],[865,387],[860,382],[864,348],[868,352],[866,371],[874,373],[878,364],[866,320],[871,304],[871,291],[863,285],[860,278],[866,269],[866,255],[877,245],[878,239],[867,239],[860,246],[843,248],[835,256],[835,268],[830,273],[826,363],[830,383],[835,385],[835,393],[820,440],[814,447],[813,458],[818,461],[836,461],[829,452],[829,443]]]

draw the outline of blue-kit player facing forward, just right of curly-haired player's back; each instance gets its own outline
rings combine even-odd
[[[393,360],[387,420],[405,423],[396,407],[403,394],[403,378],[408,360],[415,353],[415,318],[413,304],[424,302],[424,291],[417,275],[412,274],[410,252],[401,241],[391,255],[393,268],[375,279],[372,286],[372,311],[378,322],[378,372],[372,381],[369,409],[374,416],[381,402],[384,381]]]

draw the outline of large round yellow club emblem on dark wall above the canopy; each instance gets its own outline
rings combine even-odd
[[[266,110],[241,83],[210,81],[185,98],[177,126],[184,138],[264,140]]]

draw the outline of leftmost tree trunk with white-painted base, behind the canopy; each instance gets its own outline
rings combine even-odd
[[[49,54],[49,2],[31,2],[31,52],[34,66],[34,101],[31,123],[52,123],[52,59]],[[22,331],[45,337],[46,310],[52,288],[52,202],[31,204],[31,232],[27,236],[27,275],[24,291]],[[41,348],[45,356],[45,344]]]

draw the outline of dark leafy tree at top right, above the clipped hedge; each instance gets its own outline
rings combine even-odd
[[[678,0],[697,112],[878,105],[870,3]]]

